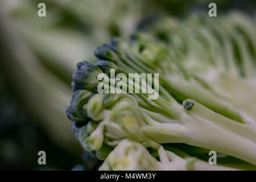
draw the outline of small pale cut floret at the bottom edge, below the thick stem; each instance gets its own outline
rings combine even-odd
[[[109,154],[100,170],[236,170],[209,165],[190,156],[183,159],[174,152],[164,150],[163,147],[160,147],[157,153],[160,161],[156,160],[141,143],[125,139]]]

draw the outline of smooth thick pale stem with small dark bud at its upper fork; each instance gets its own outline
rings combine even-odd
[[[255,129],[214,113],[198,102],[179,123],[151,122],[142,130],[157,143],[186,143],[256,164]]]

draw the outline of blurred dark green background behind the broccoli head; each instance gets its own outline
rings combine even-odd
[[[38,16],[40,2],[46,17]],[[129,39],[148,16],[208,16],[210,2],[217,15],[255,15],[255,1],[1,0],[0,169],[97,169],[101,162],[82,151],[65,115],[76,63],[96,61],[96,47],[115,36]],[[38,164],[40,150],[47,165]]]

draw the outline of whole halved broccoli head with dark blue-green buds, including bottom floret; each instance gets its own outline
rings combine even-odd
[[[236,27],[235,24],[233,20],[230,27]],[[77,64],[72,76],[74,94],[66,113],[73,122],[81,123],[74,130],[86,150],[96,151],[99,159],[109,155],[102,169],[153,169],[151,163],[159,169],[188,169],[187,163],[197,164],[198,168],[194,165],[193,169],[207,168],[207,164],[185,159],[167,165],[169,159],[178,156],[164,150],[165,143],[207,148],[256,165],[256,88],[251,71],[256,70],[255,42],[245,39],[253,35],[242,27],[241,38],[237,30],[224,27],[223,31],[216,25],[224,26],[222,22],[207,23],[197,16],[185,23],[162,19],[149,25],[147,32],[134,34],[129,46],[114,40],[97,48],[96,64]],[[159,30],[157,27],[161,26]],[[229,31],[232,34],[226,35]],[[237,34],[250,49],[234,43]],[[159,73],[158,99],[148,100],[148,93],[141,92],[99,94],[97,76],[106,73],[110,77],[111,69],[126,76]],[[133,91],[148,88],[143,79],[138,82],[127,78],[121,82]],[[101,84],[114,87],[117,82],[109,78]],[[142,166],[136,167],[139,158],[127,166],[126,159],[123,164],[115,158],[126,144],[134,145],[125,139],[134,140],[138,142],[135,146],[143,148],[139,154],[148,159]],[[158,151],[160,162],[155,159],[158,155],[149,157],[145,147]],[[124,157],[131,156],[133,150]]]

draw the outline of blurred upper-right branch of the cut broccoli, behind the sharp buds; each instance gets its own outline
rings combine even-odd
[[[162,70],[159,72],[165,73],[162,75],[163,86],[171,90],[177,100],[192,98],[238,122],[250,122],[256,119],[256,110],[251,104],[254,103],[256,92],[255,84],[251,83],[256,76],[256,42],[251,30],[256,27],[255,23],[241,15],[245,22],[241,24],[245,24],[249,28],[247,30],[236,22],[236,19],[241,22],[241,18],[236,14],[232,17],[233,14],[229,17],[231,20],[213,22],[210,18],[193,16],[183,24],[176,24],[167,30],[157,28],[163,27],[161,24],[166,23],[166,20],[158,21],[149,25],[149,33],[138,32],[134,35],[137,42],[133,49],[144,57],[146,55],[146,58],[150,52],[151,61],[157,64],[176,64],[175,71],[178,68],[182,74],[174,74],[173,69],[167,66],[161,66]],[[205,28],[205,23],[208,28]],[[229,23],[228,27],[226,23]],[[159,34],[164,34],[166,40],[154,38],[154,35]],[[221,40],[216,40],[216,36]],[[246,39],[248,36],[252,40]],[[238,50],[233,39],[241,45]],[[156,49],[152,44],[161,46]],[[139,47],[143,47],[141,52]],[[159,59],[159,53],[163,54],[162,52],[165,52],[166,59]],[[236,56],[237,52],[240,52],[240,57]],[[248,69],[243,69],[240,64],[245,64]],[[245,90],[246,94],[241,94]]]

